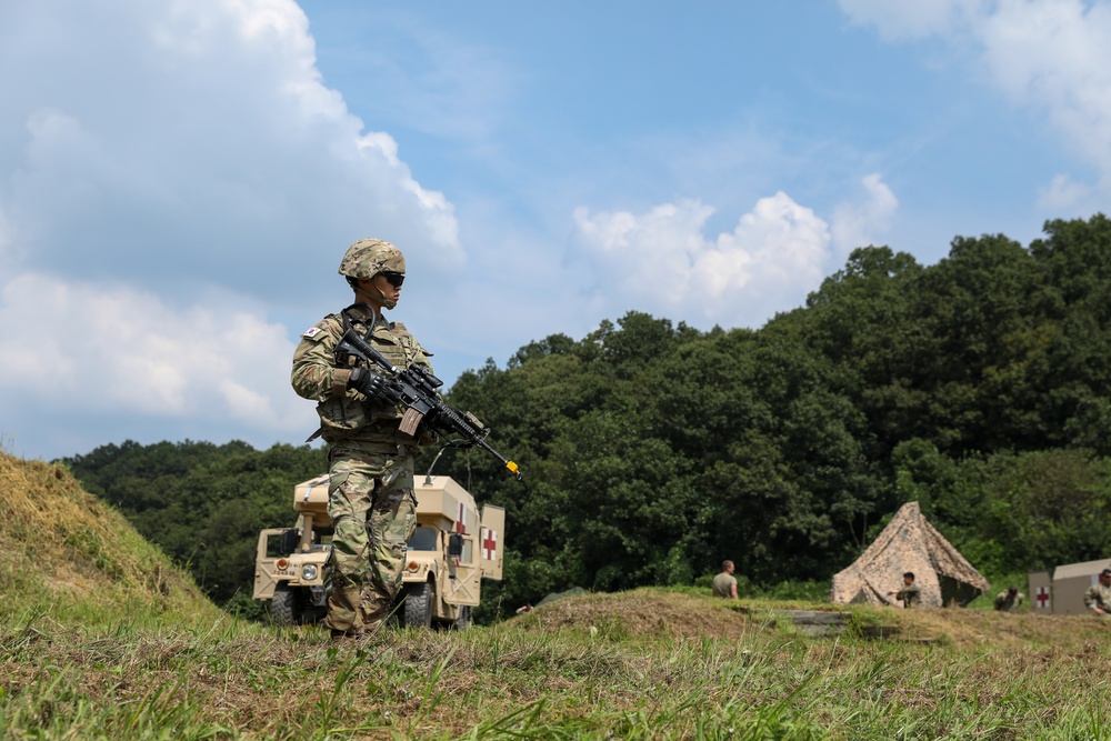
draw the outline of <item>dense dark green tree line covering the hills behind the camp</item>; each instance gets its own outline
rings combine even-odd
[[[1109,320],[1097,214],[1028,247],[957,238],[933,266],[858,249],[759,330],[633,311],[489,360],[447,398],[526,481],[473,449],[437,464],[507,509],[483,612],[692,583],[727,558],[753,584],[828,580],[911,500],[984,573],[1107,557]],[[327,467],[309,447],[188,441],[63,462],[246,611],[258,530],[291,523],[292,484]]]

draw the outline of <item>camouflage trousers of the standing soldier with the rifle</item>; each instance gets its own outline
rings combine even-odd
[[[381,443],[333,443],[324,625],[361,633],[389,614],[401,588],[406,542],[417,527],[413,454]]]

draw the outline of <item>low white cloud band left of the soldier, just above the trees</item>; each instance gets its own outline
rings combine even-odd
[[[312,411],[290,391],[292,353],[284,327],[227,306],[181,311],[149,292],[30,273],[0,292],[0,394],[37,397],[46,419],[191,419],[276,439]]]

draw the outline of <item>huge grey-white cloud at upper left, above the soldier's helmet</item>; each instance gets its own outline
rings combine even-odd
[[[97,8],[43,0],[7,30],[0,11],[20,70],[0,77],[0,211],[27,269],[251,274],[263,296],[368,234],[463,263],[453,207],[324,87],[292,0]]]

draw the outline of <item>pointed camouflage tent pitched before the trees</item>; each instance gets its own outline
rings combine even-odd
[[[831,602],[901,604],[888,592],[902,588],[904,571],[914,572],[922,607],[965,605],[991,585],[960,551],[907,502],[860,558],[833,577]]]

